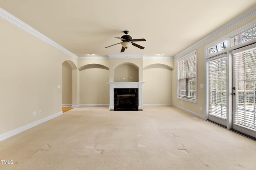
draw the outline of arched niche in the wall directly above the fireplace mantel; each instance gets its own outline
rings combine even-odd
[[[138,82],[139,67],[136,64],[128,62],[118,64],[113,68],[113,77],[114,82]]]

